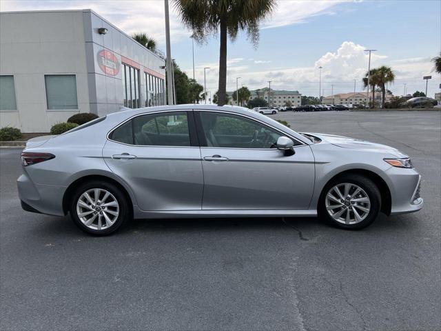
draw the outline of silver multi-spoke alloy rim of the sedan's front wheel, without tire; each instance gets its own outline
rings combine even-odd
[[[353,183],[340,183],[331,188],[326,194],[325,205],[329,216],[347,225],[360,223],[371,210],[369,196]]]

